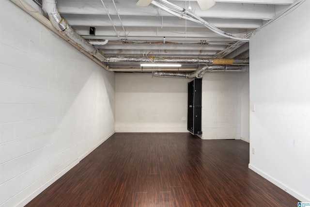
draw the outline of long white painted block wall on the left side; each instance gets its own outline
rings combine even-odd
[[[114,78],[0,0],[0,207],[24,206],[114,133]]]

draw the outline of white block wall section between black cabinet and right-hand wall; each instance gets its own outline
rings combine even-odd
[[[248,119],[248,73],[207,72],[202,79],[202,139],[240,139]],[[243,136],[247,135],[247,126]]]

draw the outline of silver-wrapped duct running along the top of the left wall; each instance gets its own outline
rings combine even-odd
[[[77,44],[80,48],[87,51],[95,58],[100,60],[101,62],[106,62],[105,56],[101,53],[100,50],[93,47],[87,40],[81,37],[75,30],[71,28],[69,24],[67,24],[66,20],[60,16],[57,7],[56,0],[42,0],[42,9],[47,14],[52,25],[65,35],[69,40]],[[106,70],[109,70],[109,67],[105,67]]]

